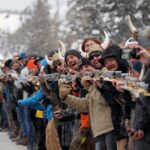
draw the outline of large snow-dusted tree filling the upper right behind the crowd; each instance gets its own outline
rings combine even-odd
[[[82,39],[98,29],[100,39],[105,30],[114,42],[120,43],[131,36],[127,15],[133,19],[142,15],[146,22],[149,20],[149,0],[69,0],[68,6],[68,27]]]

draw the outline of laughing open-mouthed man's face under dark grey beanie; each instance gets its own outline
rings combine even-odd
[[[79,59],[76,56],[68,55],[66,61],[69,68],[78,70]]]

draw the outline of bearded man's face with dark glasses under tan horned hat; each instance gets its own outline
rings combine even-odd
[[[101,63],[99,62],[101,56],[100,55],[94,55],[93,57],[91,57],[90,62],[91,65],[95,68],[95,69],[100,69],[102,67]]]

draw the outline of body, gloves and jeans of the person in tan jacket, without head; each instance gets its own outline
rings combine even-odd
[[[69,106],[79,112],[88,112],[93,136],[96,139],[96,150],[104,149],[103,141],[106,138],[108,150],[116,150],[116,140],[114,138],[114,127],[111,119],[111,108],[104,100],[101,93],[90,81],[82,79],[83,87],[88,91],[84,98],[75,97],[69,94],[71,88],[61,86],[59,95]],[[99,115],[101,114],[101,117]]]

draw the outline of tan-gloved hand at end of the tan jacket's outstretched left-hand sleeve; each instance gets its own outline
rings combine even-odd
[[[67,85],[67,84],[61,85],[59,87],[59,96],[61,98],[66,98],[67,95],[71,92],[71,90],[72,90],[72,87],[70,85]]]

